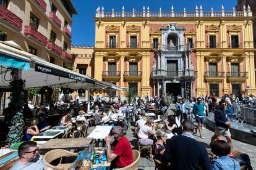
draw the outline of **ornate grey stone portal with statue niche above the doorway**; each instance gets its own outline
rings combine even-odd
[[[162,47],[156,52],[153,65],[154,95],[182,95],[192,97],[194,81],[189,49],[185,49],[184,26],[169,23],[161,27]]]

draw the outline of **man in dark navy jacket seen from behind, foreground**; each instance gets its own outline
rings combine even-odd
[[[206,148],[192,135],[194,123],[183,121],[182,131],[182,135],[171,137],[164,152],[164,159],[171,163],[170,169],[211,169]]]

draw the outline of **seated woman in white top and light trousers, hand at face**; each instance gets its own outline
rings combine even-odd
[[[153,145],[153,140],[148,137],[156,134],[153,119],[147,118],[146,123],[139,129],[139,142],[140,145]]]

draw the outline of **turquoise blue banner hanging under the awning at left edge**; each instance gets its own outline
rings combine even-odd
[[[15,57],[11,57],[9,55],[0,53],[0,65],[4,65],[6,67],[19,68],[23,70],[30,70],[30,62],[27,62],[22,59],[17,59]]]

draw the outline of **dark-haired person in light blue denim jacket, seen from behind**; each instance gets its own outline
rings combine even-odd
[[[239,163],[233,158],[229,158],[228,154],[231,152],[231,146],[224,140],[215,140],[210,144],[211,152],[220,158],[211,161],[212,169],[239,170]]]

